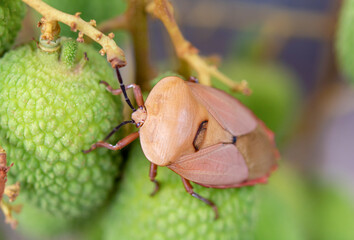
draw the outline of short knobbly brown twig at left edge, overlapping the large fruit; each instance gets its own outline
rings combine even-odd
[[[11,205],[3,199],[3,195],[9,198],[10,202],[16,200],[16,197],[20,193],[20,184],[6,185],[7,173],[13,166],[11,164],[7,166],[7,157],[5,150],[0,146],[0,209],[5,215],[5,222],[11,224],[12,228],[16,228],[17,221],[12,217],[12,212],[19,213],[21,211],[20,205]]]

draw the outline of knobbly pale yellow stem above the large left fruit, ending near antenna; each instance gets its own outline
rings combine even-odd
[[[43,15],[45,22],[62,22],[71,27],[71,30],[76,32],[79,30],[78,41],[82,41],[82,37],[86,34],[92,40],[97,42],[102,46],[100,51],[101,55],[107,54],[107,60],[111,63],[112,67],[123,67],[126,65],[125,55],[121,48],[112,39],[112,34],[108,36],[104,35],[102,32],[95,28],[96,22],[91,20],[90,22],[85,22],[80,18],[80,13],[75,15],[70,15],[64,12],[61,12],[55,8],[52,8],[48,4],[44,3],[42,0],[22,0],[28,6],[32,7],[40,14]],[[54,36],[51,36],[49,32],[46,35],[48,40],[53,39]],[[42,35],[43,36],[43,35]]]

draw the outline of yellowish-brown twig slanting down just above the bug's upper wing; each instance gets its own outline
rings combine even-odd
[[[247,86],[246,81],[237,83],[221,73],[216,67],[210,66],[198,54],[198,49],[188,42],[181,33],[176,20],[174,18],[174,9],[167,0],[154,0],[149,3],[146,11],[157,17],[165,25],[168,31],[177,56],[185,60],[198,73],[201,83],[211,85],[211,77],[214,76],[224,84],[228,85],[232,90],[239,91],[244,94],[250,94],[251,90]]]

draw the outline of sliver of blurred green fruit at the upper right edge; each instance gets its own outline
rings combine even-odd
[[[354,83],[354,1],[345,0],[340,11],[339,25],[337,29],[336,49],[339,66],[348,76],[348,80]]]

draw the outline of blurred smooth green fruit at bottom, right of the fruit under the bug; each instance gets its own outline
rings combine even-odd
[[[258,194],[255,240],[307,239],[311,208],[303,177],[281,164]]]

